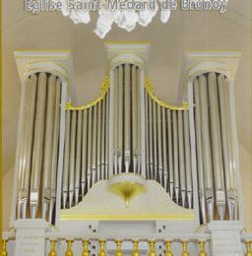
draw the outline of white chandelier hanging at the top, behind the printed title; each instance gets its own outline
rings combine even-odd
[[[170,8],[165,0],[59,0],[62,13],[75,24],[88,24],[91,12],[97,11],[95,34],[104,38],[115,24],[119,28],[131,32],[139,24],[147,27],[160,9],[160,21],[167,23]]]

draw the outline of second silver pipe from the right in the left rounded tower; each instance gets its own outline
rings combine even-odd
[[[52,142],[55,115],[56,77],[50,75],[47,88],[42,181],[42,218],[46,219],[51,196]]]

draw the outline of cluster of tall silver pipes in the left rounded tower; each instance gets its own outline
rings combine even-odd
[[[58,164],[61,81],[32,74],[23,87],[17,218],[52,220]]]

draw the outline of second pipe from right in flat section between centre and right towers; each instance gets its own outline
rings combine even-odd
[[[185,184],[185,158],[184,158],[184,136],[183,136],[183,116],[182,111],[177,111],[178,119],[178,148],[179,148],[179,177],[182,206],[185,207],[186,184]]]

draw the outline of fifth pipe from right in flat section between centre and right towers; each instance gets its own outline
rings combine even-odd
[[[168,178],[168,170],[167,170],[167,139],[166,139],[166,109],[162,107],[162,158],[163,158],[163,186],[166,191],[169,189],[167,188],[167,178]]]

